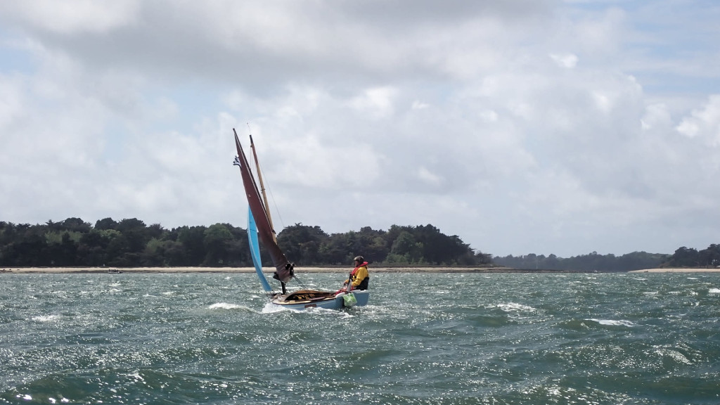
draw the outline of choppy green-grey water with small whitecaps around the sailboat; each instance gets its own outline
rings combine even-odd
[[[251,274],[0,283],[0,403],[720,403],[717,274],[374,274],[307,313]]]

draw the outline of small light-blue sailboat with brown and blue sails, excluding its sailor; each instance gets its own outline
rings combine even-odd
[[[348,283],[346,288],[338,291],[301,288],[300,290],[288,292],[287,282],[293,278],[297,278],[294,274],[294,263],[289,262],[277,244],[267,196],[262,184],[262,175],[253,137],[252,135],[250,136],[250,145],[253,150],[253,159],[255,160],[258,172],[258,181],[261,184],[261,188],[259,189],[258,184],[255,182],[255,177],[253,177],[251,167],[248,164],[248,159],[243,151],[243,146],[240,145],[240,139],[238,138],[238,133],[235,132],[235,128],[233,128],[233,133],[235,133],[235,147],[238,150],[238,156],[235,156],[233,164],[240,167],[243,187],[245,188],[245,194],[248,198],[248,243],[250,245],[253,266],[271,303],[281,306],[282,308],[296,310],[304,310],[307,308],[341,309],[356,305],[367,305],[370,296],[369,291],[351,290],[352,283]],[[271,288],[267,277],[265,277],[260,259],[260,243],[263,244],[266,251],[270,254],[270,258],[275,267],[273,278],[280,282],[282,292],[276,293],[273,288]]]

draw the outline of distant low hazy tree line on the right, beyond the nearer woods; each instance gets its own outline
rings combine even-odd
[[[632,252],[614,254],[582,254],[563,259],[554,254],[526,254],[513,257],[494,257],[494,264],[528,270],[568,270],[579,272],[628,272],[662,267],[718,267],[720,266],[720,244],[711,244],[707,249],[680,247],[674,254]]]

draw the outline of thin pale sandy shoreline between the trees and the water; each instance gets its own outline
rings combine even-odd
[[[115,270],[116,272],[111,272]],[[271,274],[274,267],[264,267]],[[298,273],[347,273],[344,267],[296,267]],[[575,273],[569,270],[514,269],[511,267],[370,267],[379,273]],[[0,274],[118,274],[118,273],[253,273],[254,267],[17,267],[0,268]],[[720,272],[720,268],[658,268],[631,270],[630,273]],[[591,272],[585,272],[591,273]],[[592,272],[594,273],[594,272]]]

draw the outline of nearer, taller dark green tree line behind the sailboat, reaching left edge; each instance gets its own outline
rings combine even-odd
[[[369,227],[325,233],[296,223],[277,236],[286,256],[298,266],[351,264],[363,255],[375,264],[472,266],[489,264],[458,236],[432,225]],[[261,248],[263,264],[269,256]],[[137,218],[104,218],[94,226],[81,218],[44,224],[0,221],[1,267],[251,267],[248,235],[229,223],[166,229]]]

